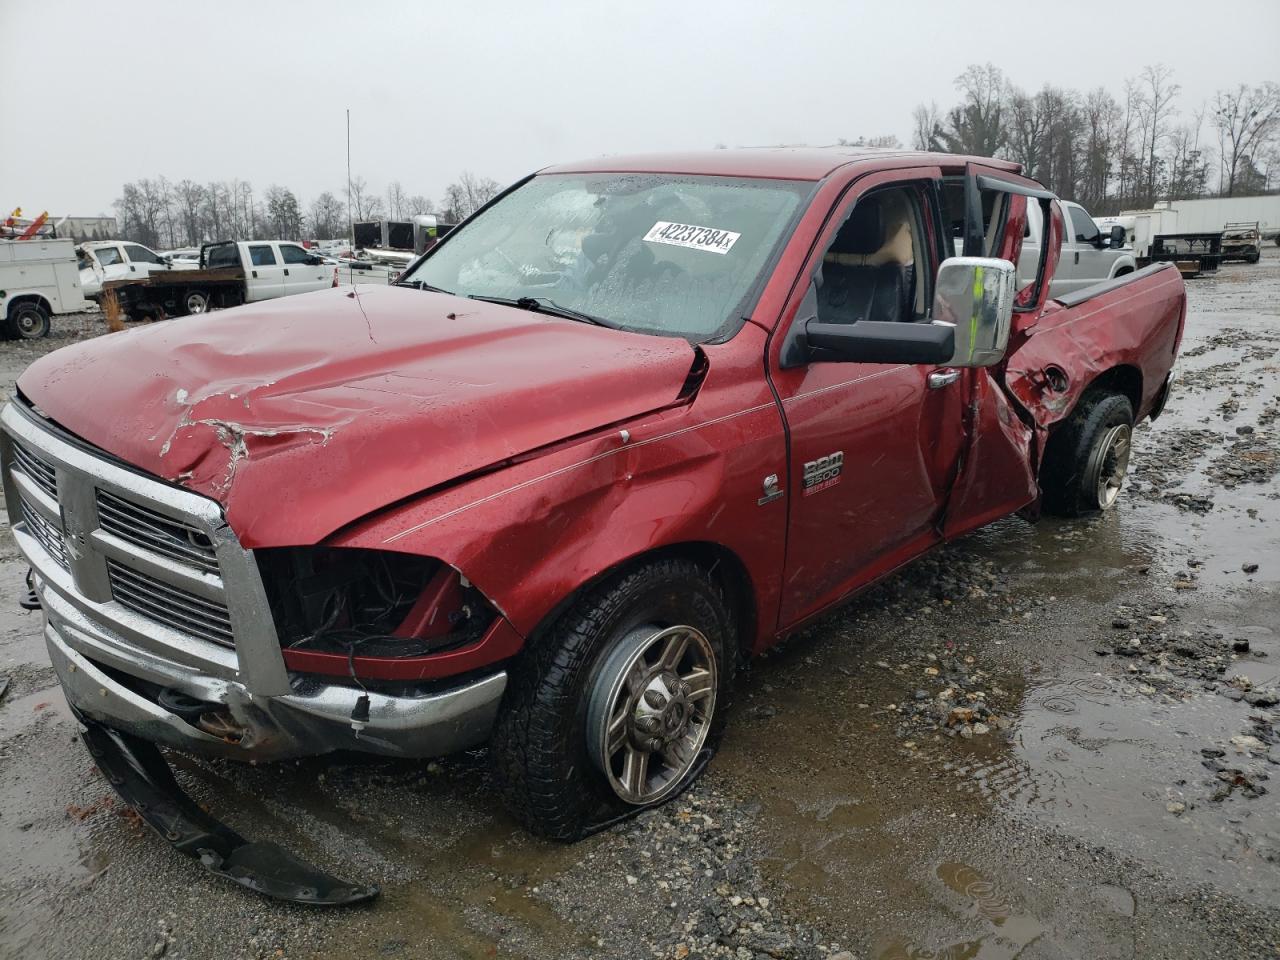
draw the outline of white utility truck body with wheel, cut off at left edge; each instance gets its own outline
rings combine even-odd
[[[70,239],[0,239],[0,333],[33,340],[49,317],[88,310]]]

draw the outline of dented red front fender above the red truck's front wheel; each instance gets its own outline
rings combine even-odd
[[[628,559],[710,543],[741,561],[755,622],[772,634],[786,499],[759,500],[765,475],[787,475],[786,443],[759,353],[736,352],[748,357],[744,369],[713,356],[689,406],[390,508],[329,543],[438,557],[525,636],[564,598]]]

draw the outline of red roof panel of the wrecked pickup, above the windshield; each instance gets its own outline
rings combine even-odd
[[[1009,173],[1021,166],[1009,160],[928,154],[914,150],[874,147],[749,147],[742,150],[701,150],[673,154],[632,154],[602,156],[570,164],[556,164],[540,173],[676,173],[712,177],[759,177],[785,180],[820,180],[847,164],[879,161],[884,166],[948,165],[980,163]]]

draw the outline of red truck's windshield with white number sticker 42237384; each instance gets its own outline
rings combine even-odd
[[[401,283],[463,297],[540,298],[609,326],[713,339],[736,329],[812,186],[673,174],[535,177],[456,229]]]

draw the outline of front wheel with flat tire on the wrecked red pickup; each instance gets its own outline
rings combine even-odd
[[[736,640],[719,585],[691,561],[588,590],[509,672],[493,754],[512,814],[570,841],[681,794],[723,730]]]

